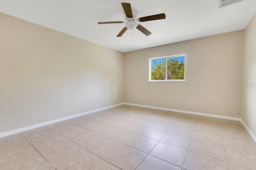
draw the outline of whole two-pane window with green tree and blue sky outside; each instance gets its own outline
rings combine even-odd
[[[149,59],[149,66],[150,82],[185,81],[185,55]]]

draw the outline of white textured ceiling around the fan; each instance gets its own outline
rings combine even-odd
[[[121,2],[138,18],[165,13],[165,20],[142,22],[151,35],[127,30]],[[256,0],[217,8],[218,0],[0,0],[0,12],[118,51],[127,52],[244,29],[256,12]]]

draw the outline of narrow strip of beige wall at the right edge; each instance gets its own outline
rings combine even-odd
[[[256,14],[244,32],[243,83],[256,83]],[[242,119],[256,135],[256,87],[242,88]]]

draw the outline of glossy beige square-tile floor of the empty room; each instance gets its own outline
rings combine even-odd
[[[0,138],[0,169],[256,170],[238,121],[118,106]]]

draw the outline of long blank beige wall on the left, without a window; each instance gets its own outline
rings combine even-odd
[[[0,133],[122,102],[123,53],[0,13]]]

